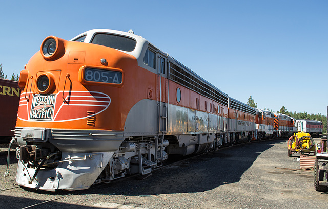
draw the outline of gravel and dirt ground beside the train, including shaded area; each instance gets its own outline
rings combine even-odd
[[[83,191],[56,193],[22,188],[0,191],[2,208],[327,208],[328,193],[314,189],[313,171],[288,157],[286,139],[242,144],[156,171],[144,180],[129,178]],[[16,186],[15,156],[4,178],[0,156],[0,190]],[[116,206],[106,206],[109,203]]]

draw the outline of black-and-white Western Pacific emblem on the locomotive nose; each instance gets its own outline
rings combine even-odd
[[[36,95],[33,97],[30,120],[51,120],[55,95]]]

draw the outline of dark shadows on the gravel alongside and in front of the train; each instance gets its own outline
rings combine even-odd
[[[285,143],[286,140],[268,140],[248,144],[237,145],[228,149],[218,150],[214,153],[198,156],[179,164],[153,171],[153,174],[144,179],[129,178],[114,181],[110,184],[101,184],[84,191],[58,191],[47,193],[43,191],[31,191],[31,193],[51,194],[52,198],[60,195],[128,195],[149,196],[172,193],[197,193],[212,190],[223,184],[238,182],[243,173],[249,169],[256,158],[265,150],[275,144]],[[31,196],[33,196],[31,194]],[[65,197],[70,199],[70,196]],[[29,205],[43,202],[22,197],[0,195],[0,202],[5,205],[2,208],[15,206],[23,208]],[[69,201],[70,202],[70,201]],[[72,203],[49,202],[34,208],[93,208],[75,205]]]

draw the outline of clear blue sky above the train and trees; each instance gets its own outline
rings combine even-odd
[[[19,74],[49,35],[132,29],[229,96],[259,108],[328,105],[328,1],[1,1],[0,63]]]

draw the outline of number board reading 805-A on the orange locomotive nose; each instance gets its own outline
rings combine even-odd
[[[107,71],[104,69],[85,68],[84,80],[102,83],[122,83],[122,72]]]

